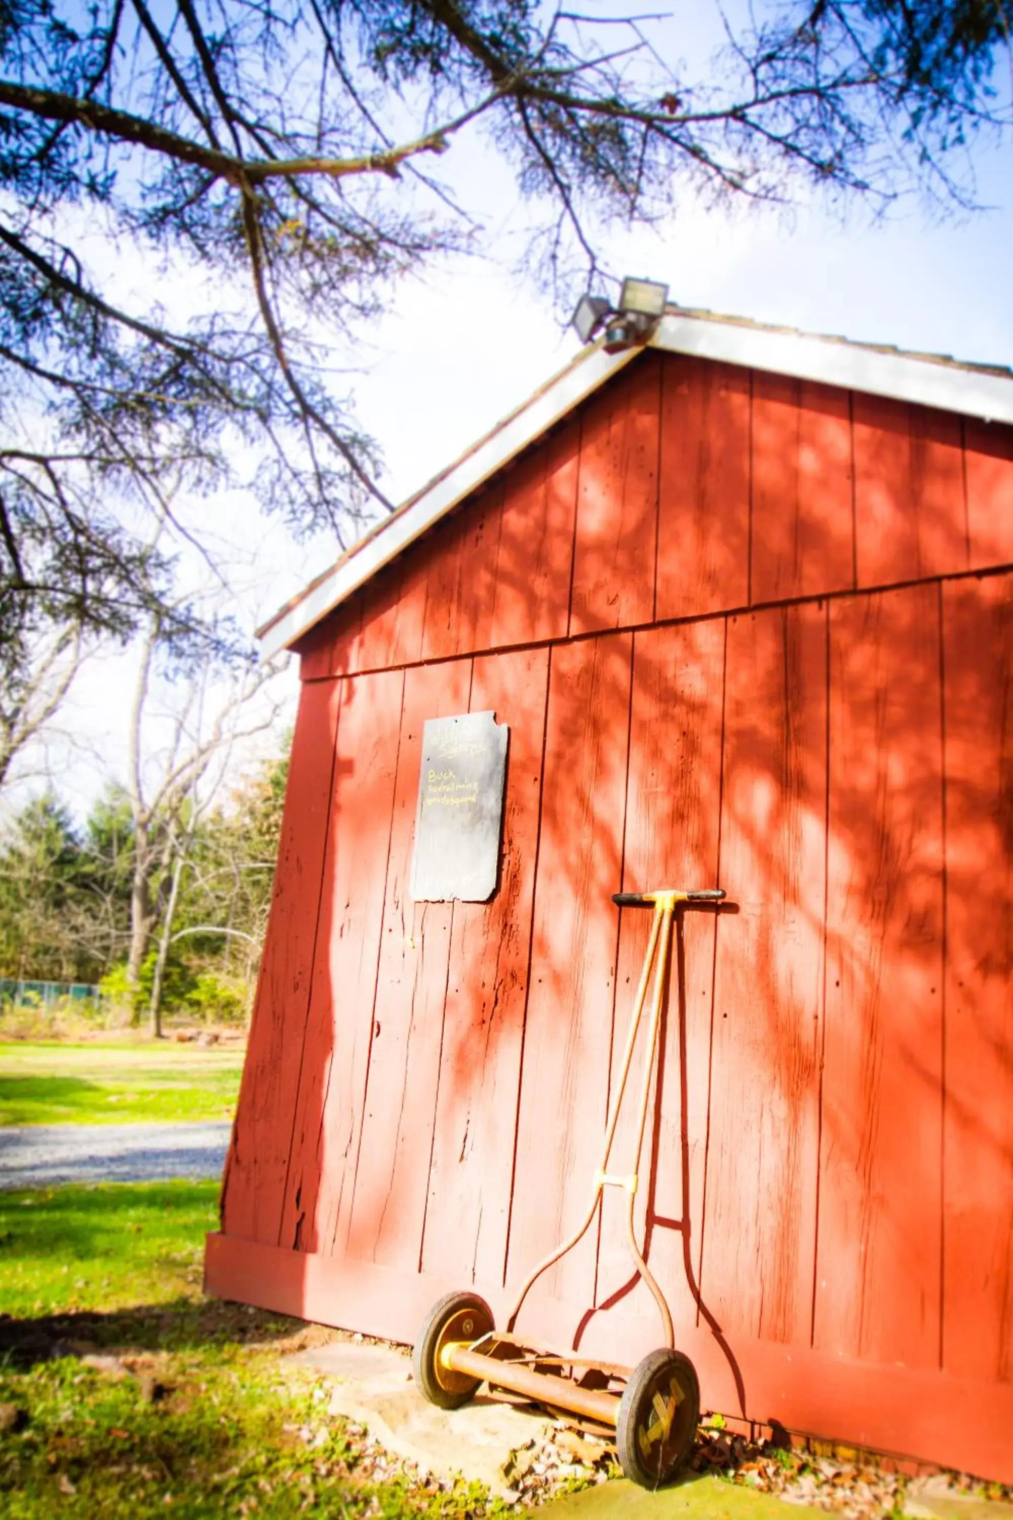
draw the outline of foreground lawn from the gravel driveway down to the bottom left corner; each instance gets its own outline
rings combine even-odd
[[[286,1354],[296,1321],[204,1300],[211,1183],[0,1193],[5,1520],[270,1515],[465,1520],[503,1506],[440,1490],[327,1411]],[[64,1271],[67,1266],[67,1271]],[[317,1332],[319,1333],[319,1332]]]

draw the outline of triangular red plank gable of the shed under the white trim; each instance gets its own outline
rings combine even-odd
[[[1013,561],[1013,429],[645,350],[296,646],[355,675]]]

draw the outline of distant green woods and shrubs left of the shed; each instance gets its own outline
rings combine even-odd
[[[0,833],[0,977],[99,983],[125,1021],[159,1024],[163,1011],[194,1021],[245,1020],[287,771],[284,757],[263,762],[228,793],[222,787],[196,821],[184,807],[184,828],[193,822],[185,854],[163,857],[150,871],[153,920],[135,979],[137,831],[128,792],[111,786],[84,825],[52,789],[24,804]]]

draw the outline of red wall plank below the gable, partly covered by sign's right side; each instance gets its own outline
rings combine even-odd
[[[510,725],[500,886],[454,903],[422,1269],[503,1283],[513,1173],[548,651],[475,660],[471,711]]]

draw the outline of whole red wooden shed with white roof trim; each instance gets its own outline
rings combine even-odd
[[[1013,375],[668,309],[263,641],[302,689],[208,1287],[500,1309],[598,1161],[611,894],[720,885],[638,1195],[703,1404],[1011,1482]],[[489,708],[498,889],[415,903],[424,720]],[[658,1344],[611,1199],[525,1315]]]

